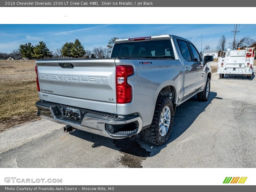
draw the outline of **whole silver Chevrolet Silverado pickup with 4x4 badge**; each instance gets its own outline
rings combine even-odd
[[[118,39],[106,59],[37,60],[37,115],[65,131],[113,139],[141,133],[162,145],[177,106],[196,94],[208,100],[212,60],[173,35]]]

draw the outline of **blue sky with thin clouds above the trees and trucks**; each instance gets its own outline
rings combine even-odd
[[[232,40],[234,24],[0,24],[0,52],[11,52],[20,44],[38,44],[44,41],[46,46],[54,51],[66,42],[79,39],[85,49],[106,47],[111,37],[130,38],[173,34],[192,41],[198,51],[201,51],[201,34],[203,34],[203,49],[205,45],[216,48],[218,40],[225,35],[227,42]],[[238,38],[251,36],[256,40],[256,24],[239,26]],[[228,48],[228,47],[226,47]]]

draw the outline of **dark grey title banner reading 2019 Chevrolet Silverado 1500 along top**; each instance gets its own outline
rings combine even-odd
[[[14,0],[1,1],[0,7],[256,7],[255,0],[233,1],[233,0],[189,0],[189,1],[166,1],[166,0],[144,0],[144,1],[90,1],[90,0]],[[216,7],[216,9],[217,9]],[[198,10],[195,10],[198,11]],[[202,14],[207,10],[201,10]]]

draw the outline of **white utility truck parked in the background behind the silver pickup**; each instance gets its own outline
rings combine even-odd
[[[224,56],[224,54],[226,55]],[[254,48],[245,48],[243,50],[228,49],[227,52],[221,52],[218,58],[218,71],[220,78],[224,75],[245,75],[251,79],[253,75],[253,61],[255,57]]]

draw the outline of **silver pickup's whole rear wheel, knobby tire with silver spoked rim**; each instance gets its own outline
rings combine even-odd
[[[173,116],[172,100],[158,97],[151,126],[141,131],[142,138],[154,145],[163,145],[170,138]]]

